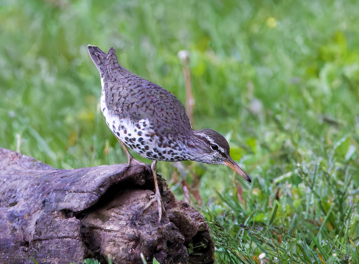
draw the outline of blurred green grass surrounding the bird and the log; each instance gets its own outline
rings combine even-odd
[[[229,168],[160,163],[205,215],[217,263],[359,263],[357,1],[0,1],[0,146],[56,168],[125,163],[86,46],[185,102]],[[264,256],[265,254],[265,256]]]

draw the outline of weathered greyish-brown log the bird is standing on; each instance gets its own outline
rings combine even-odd
[[[204,217],[159,177],[167,216],[144,211],[153,177],[141,165],[55,169],[0,148],[0,263],[213,263]],[[103,262],[102,262],[103,263]]]

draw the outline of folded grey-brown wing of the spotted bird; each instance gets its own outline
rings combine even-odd
[[[118,64],[115,50],[107,53],[105,101],[113,114],[134,120],[149,119],[155,128],[176,132],[191,129],[183,104],[170,92]]]

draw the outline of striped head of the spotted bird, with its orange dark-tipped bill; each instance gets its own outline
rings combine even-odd
[[[229,156],[228,142],[220,133],[212,129],[200,129],[194,133],[197,138],[195,147],[199,154],[196,157],[198,161],[226,165],[251,182],[247,173]]]

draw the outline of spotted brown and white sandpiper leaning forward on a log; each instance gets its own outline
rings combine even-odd
[[[148,209],[157,201],[158,221],[165,212],[157,182],[157,161],[192,160],[223,164],[251,182],[250,176],[229,155],[227,140],[212,129],[192,129],[185,107],[171,92],[123,68],[116,52],[107,53],[88,45],[88,52],[101,76],[100,106],[107,126],[120,142],[129,164],[136,160],[129,149],[152,160],[154,195]]]

